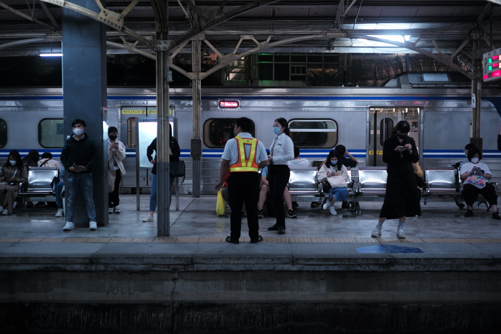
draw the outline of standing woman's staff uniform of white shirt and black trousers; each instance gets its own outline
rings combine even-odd
[[[270,193],[272,194],[275,205],[275,216],[277,217],[277,226],[285,228],[284,212],[284,190],[289,183],[291,170],[287,162],[294,159],[294,143],[291,137],[285,132],[281,133],[270,146],[270,155],[273,162],[268,166],[268,183],[270,183]]]

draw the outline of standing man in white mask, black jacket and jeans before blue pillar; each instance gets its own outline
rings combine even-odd
[[[97,230],[96,209],[92,196],[92,170],[99,162],[99,154],[94,141],[84,133],[85,121],[76,119],[71,124],[74,135],[67,139],[61,152],[61,163],[68,171],[65,192],[67,196],[66,224],[63,231],[75,228],[72,222],[75,211],[75,200],[81,188],[84,195],[87,214],[89,215],[89,228]]]

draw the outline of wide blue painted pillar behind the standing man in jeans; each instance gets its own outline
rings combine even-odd
[[[76,5],[99,12],[95,0],[74,0]],[[86,122],[85,132],[98,148],[100,162],[92,172],[98,226],[108,224],[108,155],[106,93],[106,28],[74,11],[63,9],[63,106],[66,138],[73,135],[75,119]],[[105,157],[106,154],[106,157]],[[68,171],[66,171],[68,173]],[[89,226],[82,193],[73,223]]]

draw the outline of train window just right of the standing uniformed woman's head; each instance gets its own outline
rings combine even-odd
[[[338,143],[338,125],[333,120],[291,120],[289,128],[297,147],[333,148]]]

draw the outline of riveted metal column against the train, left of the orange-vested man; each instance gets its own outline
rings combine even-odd
[[[191,41],[191,66],[196,77],[192,80],[193,87],[193,138],[191,139],[191,158],[193,159],[193,197],[200,197],[200,158],[201,158],[201,138],[200,138],[200,44],[201,41],[195,37]]]

